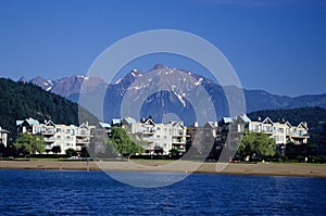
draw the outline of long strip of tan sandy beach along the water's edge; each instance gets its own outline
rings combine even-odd
[[[218,163],[220,164],[220,163]],[[193,168],[196,167],[196,168]],[[326,164],[277,164],[256,163],[225,164],[216,170],[216,163],[140,161],[128,162],[68,162],[68,161],[0,161],[0,169],[43,169],[43,170],[103,170],[103,171],[165,171],[196,174],[227,174],[249,176],[297,176],[326,178]],[[191,171],[195,170],[195,171]]]

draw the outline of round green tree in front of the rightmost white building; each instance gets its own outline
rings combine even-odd
[[[242,157],[255,154],[259,157],[274,156],[276,143],[268,135],[247,131],[240,142],[238,154]]]

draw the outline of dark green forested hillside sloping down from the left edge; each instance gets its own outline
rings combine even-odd
[[[84,109],[83,113],[89,122],[96,120]],[[15,136],[15,120],[27,117],[78,125],[78,104],[32,84],[0,78],[0,126]]]

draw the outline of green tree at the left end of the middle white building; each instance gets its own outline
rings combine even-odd
[[[143,148],[136,144],[121,127],[112,128],[111,142],[114,149],[125,156],[143,152]]]

